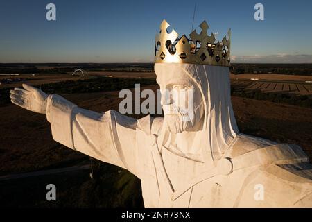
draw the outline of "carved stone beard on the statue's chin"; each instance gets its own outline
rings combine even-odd
[[[194,115],[177,105],[163,105],[164,124],[171,133],[182,133],[193,126]]]

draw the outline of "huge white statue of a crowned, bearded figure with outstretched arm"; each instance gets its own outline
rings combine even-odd
[[[155,73],[161,89],[193,89],[191,121],[182,121],[183,113],[137,120],[114,110],[93,112],[30,85],[11,90],[12,103],[45,113],[55,141],[135,174],[145,207],[312,207],[306,154],[294,144],[239,133],[226,61],[181,62],[178,51],[187,49],[180,40],[171,61],[155,58]],[[156,57],[164,47],[170,48],[162,44]],[[162,105],[172,105],[164,94]]]

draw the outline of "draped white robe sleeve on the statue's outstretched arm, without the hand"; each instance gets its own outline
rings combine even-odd
[[[114,110],[98,113],[78,108],[55,94],[48,96],[46,119],[51,123],[55,141],[103,162],[128,169],[138,176],[136,119]]]

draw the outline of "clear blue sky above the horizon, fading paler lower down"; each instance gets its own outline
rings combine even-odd
[[[234,62],[312,62],[312,1],[0,1],[0,62],[153,62],[166,19],[179,33],[204,19]],[[46,20],[55,3],[56,21]],[[264,21],[254,20],[254,5]]]

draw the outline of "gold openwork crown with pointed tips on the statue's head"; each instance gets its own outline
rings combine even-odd
[[[216,42],[214,34],[207,35],[209,26],[206,21],[200,24],[200,34],[193,30],[189,34],[182,35],[172,29],[168,33],[170,25],[166,20],[162,21],[160,31],[155,37],[155,63],[191,63],[204,65],[229,66],[231,30],[221,42]]]

